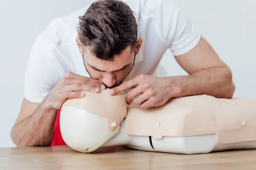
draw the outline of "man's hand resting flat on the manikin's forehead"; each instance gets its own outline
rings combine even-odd
[[[46,96],[45,102],[50,108],[59,109],[68,98],[84,97],[84,93],[81,91],[98,93],[100,89],[105,89],[105,85],[99,80],[68,72],[54,88],[52,88]]]

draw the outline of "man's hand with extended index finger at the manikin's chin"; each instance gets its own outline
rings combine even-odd
[[[122,91],[133,88],[127,93],[127,104],[130,105],[134,99],[135,105],[140,105],[141,108],[146,109],[165,104],[170,99],[172,92],[177,93],[179,91],[178,88],[170,87],[169,79],[166,77],[154,77],[140,74],[134,79],[123,82],[118,87],[111,89],[111,95],[116,95]]]

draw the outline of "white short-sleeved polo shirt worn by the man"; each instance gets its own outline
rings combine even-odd
[[[173,0],[122,0],[134,11],[138,37],[143,43],[134,67],[125,80],[139,74],[153,75],[167,49],[174,56],[197,45],[201,35]],[[90,77],[76,45],[79,16],[88,7],[55,18],[36,38],[25,75],[24,97],[40,103],[68,72]]]

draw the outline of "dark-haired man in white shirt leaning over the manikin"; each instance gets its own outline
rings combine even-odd
[[[188,76],[152,76],[167,49]],[[56,18],[36,38],[13,142],[60,144],[62,103],[105,88],[129,91],[127,103],[143,109],[172,97],[231,98],[235,90],[230,69],[172,0],[100,0]]]

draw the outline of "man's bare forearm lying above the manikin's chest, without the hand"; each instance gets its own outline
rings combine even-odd
[[[227,67],[208,68],[189,76],[169,77],[169,81],[180,89],[176,97],[207,94],[217,98],[232,98],[235,91],[232,73]]]

